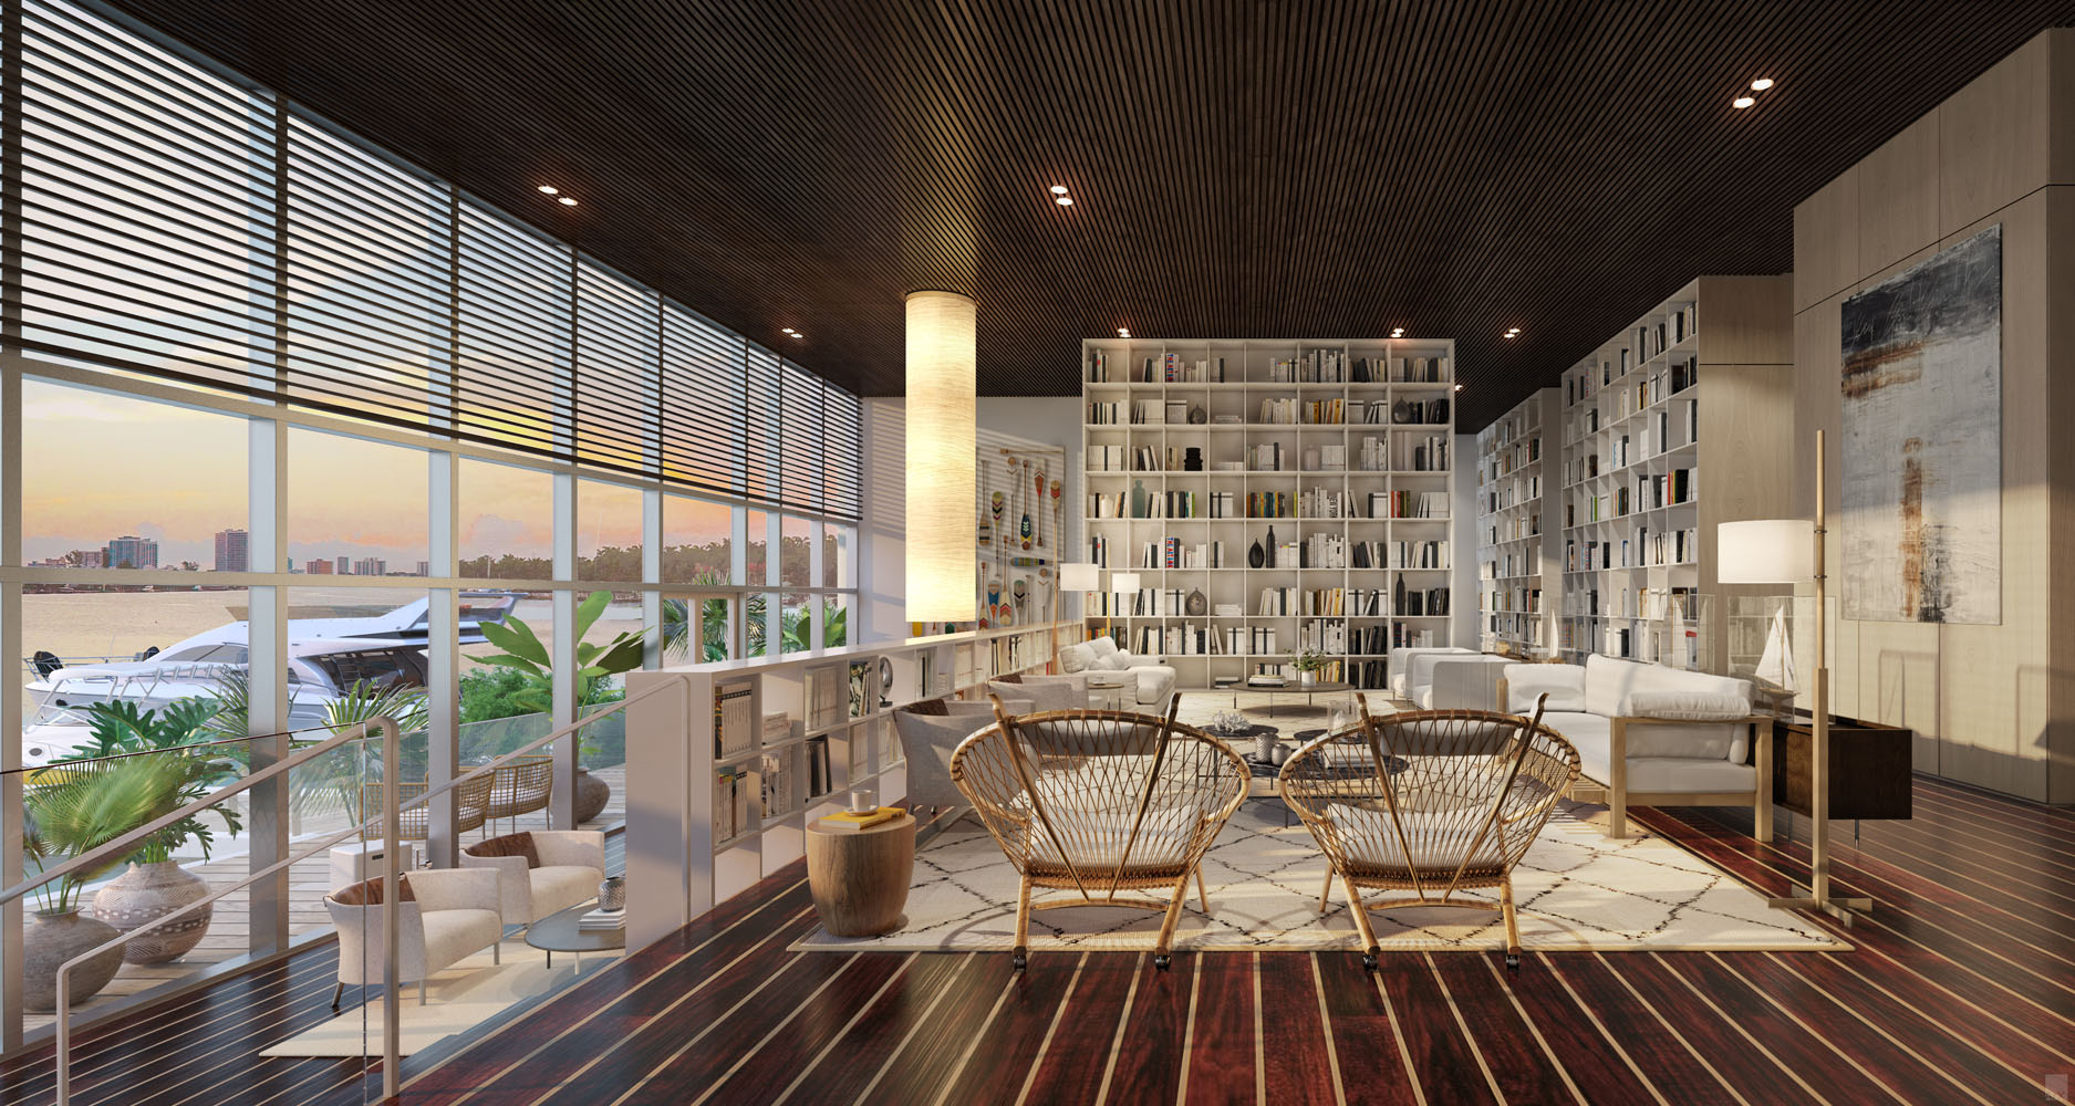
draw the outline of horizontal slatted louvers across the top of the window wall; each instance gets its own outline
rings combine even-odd
[[[857,396],[58,2],[21,21],[21,349],[857,517]]]

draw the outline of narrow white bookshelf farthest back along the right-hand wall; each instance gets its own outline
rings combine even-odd
[[[1544,656],[1544,612],[1562,585],[1558,427],[1562,390],[1542,388],[1477,432],[1477,635],[1486,652]]]

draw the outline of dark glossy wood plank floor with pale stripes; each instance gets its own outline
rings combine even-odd
[[[459,1054],[411,1104],[535,1102],[2056,1102],[2075,1075],[2075,811],[1917,780],[1913,822],[1836,836],[1876,911],[1851,952],[1008,957],[789,952],[799,867]],[[1805,840],[1639,811],[1766,892]],[[1805,824],[1799,826],[1805,834]],[[98,1031],[79,1102],[349,1104],[357,1062],[255,1060],[324,1011],[299,957]],[[0,1071],[48,1102],[50,1060]]]

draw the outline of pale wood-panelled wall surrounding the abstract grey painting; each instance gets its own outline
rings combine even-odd
[[[2040,35],[1940,106],[1936,158],[1921,133],[1899,135],[1853,168],[1859,201],[1847,212],[1824,195],[1795,210],[1797,243],[1820,243],[1826,224],[1851,218],[1861,257],[1836,291],[1803,282],[1797,268],[1795,392],[1797,436],[1822,425],[1838,434],[1838,309],[1843,301],[1975,232],[2002,224],[2002,620],[2000,625],[1849,623],[1836,627],[1834,706],[1841,714],[1917,730],[1915,764],[2011,795],[2075,801],[2075,770],[2050,768],[2075,718],[2075,596],[2054,589],[2075,535],[2058,504],[2075,488],[2069,423],[2069,328],[2075,278],[2075,220],[2060,224],[2063,193],[2050,189],[2050,151],[2075,114],[2048,129],[2048,106],[2065,75],[2052,71],[2065,33]],[[2052,50],[2048,50],[2052,46]],[[1915,176],[1909,166],[1921,166]],[[1876,176],[1884,178],[1876,183]],[[1936,230],[1921,195],[1940,197]],[[1988,205],[1988,208],[1984,208]],[[1963,212],[1973,218],[1961,220]],[[1903,251],[1897,255],[1897,251]],[[1826,253],[1826,259],[1834,253]],[[1892,257],[1892,259],[1890,259]],[[1836,440],[1836,438],[1832,438]],[[1795,500],[1814,506],[1814,473],[1797,473]],[[1832,591],[1843,596],[1838,459],[1832,459]],[[2060,556],[2056,560],[2056,550]],[[2063,589],[2065,591],[2065,589]],[[1814,662],[1807,643],[1801,660]],[[2065,782],[2063,782],[2065,780]]]

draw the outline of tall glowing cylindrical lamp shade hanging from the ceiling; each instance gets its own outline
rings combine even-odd
[[[971,623],[977,546],[977,305],[907,297],[907,616]]]

